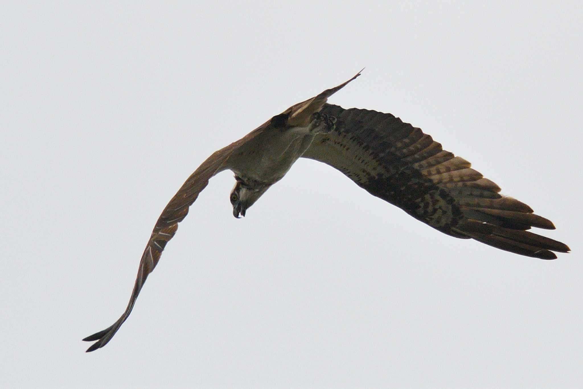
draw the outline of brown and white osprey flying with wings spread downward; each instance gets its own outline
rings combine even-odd
[[[230,202],[236,218],[245,216],[304,157],[335,167],[371,195],[450,236],[543,260],[557,258],[553,251],[570,250],[564,243],[528,232],[531,227],[554,225],[523,202],[498,194],[498,185],[420,128],[391,114],[326,103],[359,75],[275,115],[217,150],[188,177],[154,226],[124,314],[111,327],[83,339],[97,341],[87,352],[105,346],[119,330],[189,206],[211,177],[227,169],[235,174]]]

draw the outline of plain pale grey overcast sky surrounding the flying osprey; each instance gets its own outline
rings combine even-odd
[[[0,387],[574,388],[579,2],[5,2]],[[445,236],[299,160],[234,219],[210,181],[105,348],[164,205],[298,101],[389,112],[571,254]]]

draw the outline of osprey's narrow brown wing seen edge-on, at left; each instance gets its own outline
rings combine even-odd
[[[144,282],[146,282],[147,276],[158,264],[164,247],[166,247],[166,244],[172,239],[178,229],[178,223],[186,217],[189,206],[194,203],[199,193],[206,187],[206,185],[208,185],[209,179],[215,176],[215,174],[220,173],[220,171],[228,169],[229,156],[236,151],[239,146],[250,141],[258,134],[261,134],[268,124],[269,122],[266,122],[244,138],[231,143],[223,149],[217,150],[213,155],[208,157],[190,177],[188,177],[184,184],[182,184],[182,187],[176,192],[170,202],[168,202],[168,205],[166,205],[166,208],[164,208],[164,211],[162,211],[158,218],[156,226],[154,226],[152,235],[150,236],[142,254],[142,260],[139,264],[138,275],[136,276],[134,290],[132,290],[132,295],[129,298],[128,307],[125,309],[122,316],[110,327],[83,339],[88,342],[97,341],[87,349],[87,352],[105,346],[128,318],[134,308],[134,303],[138,298],[140,290],[142,289]]]

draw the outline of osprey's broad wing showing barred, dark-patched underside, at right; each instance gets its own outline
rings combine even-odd
[[[554,259],[570,249],[526,230],[554,229],[528,205],[504,197],[500,188],[441,148],[420,128],[391,114],[325,104],[336,128],[319,134],[303,157],[342,171],[370,194],[451,236],[528,257]]]

